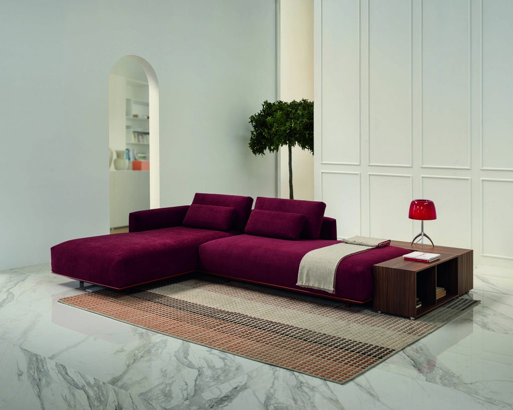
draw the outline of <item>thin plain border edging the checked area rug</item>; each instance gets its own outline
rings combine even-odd
[[[187,279],[186,279],[187,280]],[[218,280],[215,280],[215,278],[199,278],[199,280],[203,280],[203,281],[212,281],[212,282],[216,282],[216,283],[223,283],[222,281],[218,281]],[[180,283],[180,282],[171,282],[169,284],[175,284],[175,283]],[[236,285],[242,285],[241,287],[243,288],[250,288],[250,289],[253,289],[253,290],[258,290],[258,291],[268,291],[268,293],[273,293],[273,294],[284,294],[284,295],[288,295],[290,297],[295,297],[295,298],[301,298],[301,299],[307,299],[307,300],[314,300],[316,301],[317,299],[319,299],[319,302],[322,303],[322,302],[332,302],[332,303],[337,303],[336,301],[332,301],[332,300],[326,300],[326,299],[323,299],[323,298],[316,298],[316,297],[311,297],[311,296],[304,296],[304,295],[297,295],[293,292],[287,292],[287,291],[283,291],[283,290],[278,290],[278,289],[274,289],[274,288],[268,288],[267,286],[259,286],[259,285],[254,285],[254,284],[248,284],[248,283],[245,283],[245,282],[241,282],[241,281],[236,281],[236,280],[231,280],[229,283],[231,283],[232,285],[233,284],[236,284]],[[225,283],[223,283],[225,284]],[[133,292],[133,293],[138,293],[138,292],[141,292],[141,291],[145,291],[147,289],[151,289],[151,288],[160,288],[161,286],[164,286],[166,285],[166,283],[164,284],[161,284],[160,286],[150,286],[150,285],[146,285],[142,288],[137,288],[137,292]],[[99,290],[96,290],[96,291],[93,291],[93,292],[89,292],[89,293],[96,293],[96,292],[101,292],[102,290],[105,290],[105,289],[108,289],[108,288],[104,288],[104,289],[99,289]],[[135,289],[134,289],[135,291]],[[270,292],[269,292],[270,291]],[[274,292],[272,292],[274,291]],[[461,315],[463,315],[464,313],[467,313],[468,311],[472,310],[473,308],[475,308],[477,305],[479,305],[481,303],[481,300],[475,300],[475,299],[469,299],[469,298],[465,298],[463,296],[459,296],[449,302],[447,302],[447,304],[445,305],[442,305],[440,308],[434,310],[434,311],[431,311],[430,313],[426,314],[425,316],[422,316],[421,318],[419,319],[416,319],[416,321],[422,321],[423,319],[425,319],[426,317],[428,317],[430,314],[433,314],[435,312],[437,312],[439,309],[444,309],[444,308],[447,308],[448,305],[450,305],[451,303],[454,303],[460,299],[468,299],[468,300],[472,300],[472,303],[470,303],[465,309],[459,311],[458,313],[455,313],[450,320],[447,320],[445,321],[444,323],[442,324],[439,324],[437,325],[437,327],[435,327],[434,329],[428,331],[427,333],[424,333],[422,336],[416,338],[415,340],[412,340],[410,343],[402,346],[401,348],[398,348],[397,350],[393,351],[392,353],[384,356],[383,358],[379,359],[378,361],[368,365],[364,370],[358,372],[357,374],[354,374],[350,377],[348,377],[347,379],[343,380],[343,381],[337,381],[337,380],[332,380],[330,379],[329,377],[321,377],[321,376],[316,376],[316,375],[313,375],[313,374],[310,374],[310,373],[307,373],[307,372],[303,372],[301,370],[297,370],[297,369],[294,369],[294,368],[291,368],[291,367],[287,367],[287,366],[281,366],[279,364],[273,364],[273,363],[269,363],[269,362],[266,362],[264,360],[259,360],[259,359],[256,359],[254,357],[249,357],[249,356],[246,356],[246,355],[243,355],[243,354],[239,354],[239,353],[234,353],[234,352],[230,352],[228,350],[225,350],[223,348],[218,348],[218,347],[214,347],[214,346],[211,346],[211,345],[208,345],[208,344],[205,344],[205,343],[201,343],[201,342],[196,342],[196,341],[193,341],[193,340],[190,340],[188,338],[185,338],[185,337],[180,337],[180,336],[175,336],[175,335],[170,335],[168,333],[165,333],[165,332],[160,332],[160,331],[157,331],[157,330],[154,330],[154,329],[151,329],[150,327],[147,327],[147,326],[143,326],[143,325],[140,325],[140,324],[135,324],[133,322],[129,322],[127,320],[123,320],[123,319],[119,319],[119,318],[116,318],[116,317],[113,317],[113,316],[109,316],[107,314],[104,314],[104,313],[99,313],[99,312],[96,312],[96,311],[93,311],[93,310],[90,310],[90,309],[87,309],[87,308],[83,308],[82,306],[77,306],[77,305],[74,305],[72,303],[68,303],[66,301],[64,301],[64,299],[73,299],[74,297],[77,297],[77,296],[83,296],[85,293],[82,293],[82,294],[79,294],[79,295],[74,295],[74,296],[69,296],[69,297],[65,297],[65,298],[61,298],[61,299],[58,299],[58,302],[59,303],[62,303],[62,304],[65,304],[65,305],[68,305],[68,306],[71,306],[72,308],[75,308],[75,309],[80,309],[80,310],[83,310],[83,311],[86,311],[86,312],[90,312],[90,313],[93,313],[95,315],[100,315],[100,316],[103,316],[103,317],[106,317],[106,318],[109,318],[109,319],[113,319],[113,320],[117,320],[117,321],[120,321],[120,322],[123,322],[123,323],[126,323],[126,324],[130,324],[132,326],[136,326],[136,327],[140,327],[141,329],[145,329],[145,330],[148,330],[148,331],[151,331],[153,333],[158,333],[158,334],[161,334],[161,335],[164,335],[164,336],[167,336],[167,337],[172,337],[172,338],[175,338],[175,339],[180,339],[180,340],[184,340],[186,342],[189,342],[189,343],[194,343],[194,344],[198,344],[198,345],[201,345],[201,346],[204,346],[204,347],[208,347],[208,348],[211,348],[213,350],[217,350],[217,351],[220,351],[220,352],[223,352],[223,353],[228,353],[228,354],[231,354],[231,355],[234,355],[234,356],[239,356],[239,357],[243,357],[245,359],[248,359],[248,360],[253,360],[253,361],[256,361],[256,362],[260,362],[260,363],[264,363],[264,364],[267,364],[269,366],[275,366],[275,367],[281,367],[281,368],[284,368],[285,370],[289,370],[291,372],[296,372],[296,373],[301,373],[301,374],[304,374],[304,375],[307,375],[307,376],[310,376],[310,377],[315,377],[315,378],[318,378],[318,379],[321,379],[321,380],[325,380],[325,381],[328,381],[328,382],[331,382],[331,383],[337,383],[337,384],[346,384],[347,382],[353,380],[354,378],[357,378],[361,375],[363,375],[364,373],[368,372],[371,368],[373,368],[374,366],[377,366],[378,364],[384,362],[385,360],[388,360],[389,358],[391,358],[392,356],[402,352],[403,350],[405,350],[407,347],[411,346],[412,344],[415,344],[417,343],[419,340],[425,338],[426,336],[430,335],[431,333],[434,333],[440,329],[442,329],[442,327],[444,327],[445,325],[447,325],[448,323],[452,322],[453,320],[457,319],[458,317],[460,317]],[[127,293],[126,294],[127,296],[130,296],[131,294],[130,293]],[[343,302],[340,302],[340,303],[343,303]],[[360,306],[358,306],[360,308]],[[349,309],[354,309],[354,308],[349,308]],[[366,309],[366,308],[363,308],[363,306],[361,307],[361,309]],[[369,312],[373,313],[373,314],[376,314],[376,315],[380,315],[380,316],[389,316],[389,317],[393,317],[393,318],[398,318],[398,319],[401,319],[401,320],[407,320],[407,321],[410,321],[411,319],[409,318],[406,318],[406,317],[402,317],[402,316],[397,316],[397,315],[390,315],[390,314],[386,314],[386,313],[378,313],[376,311],[373,311],[372,309],[368,309]]]

